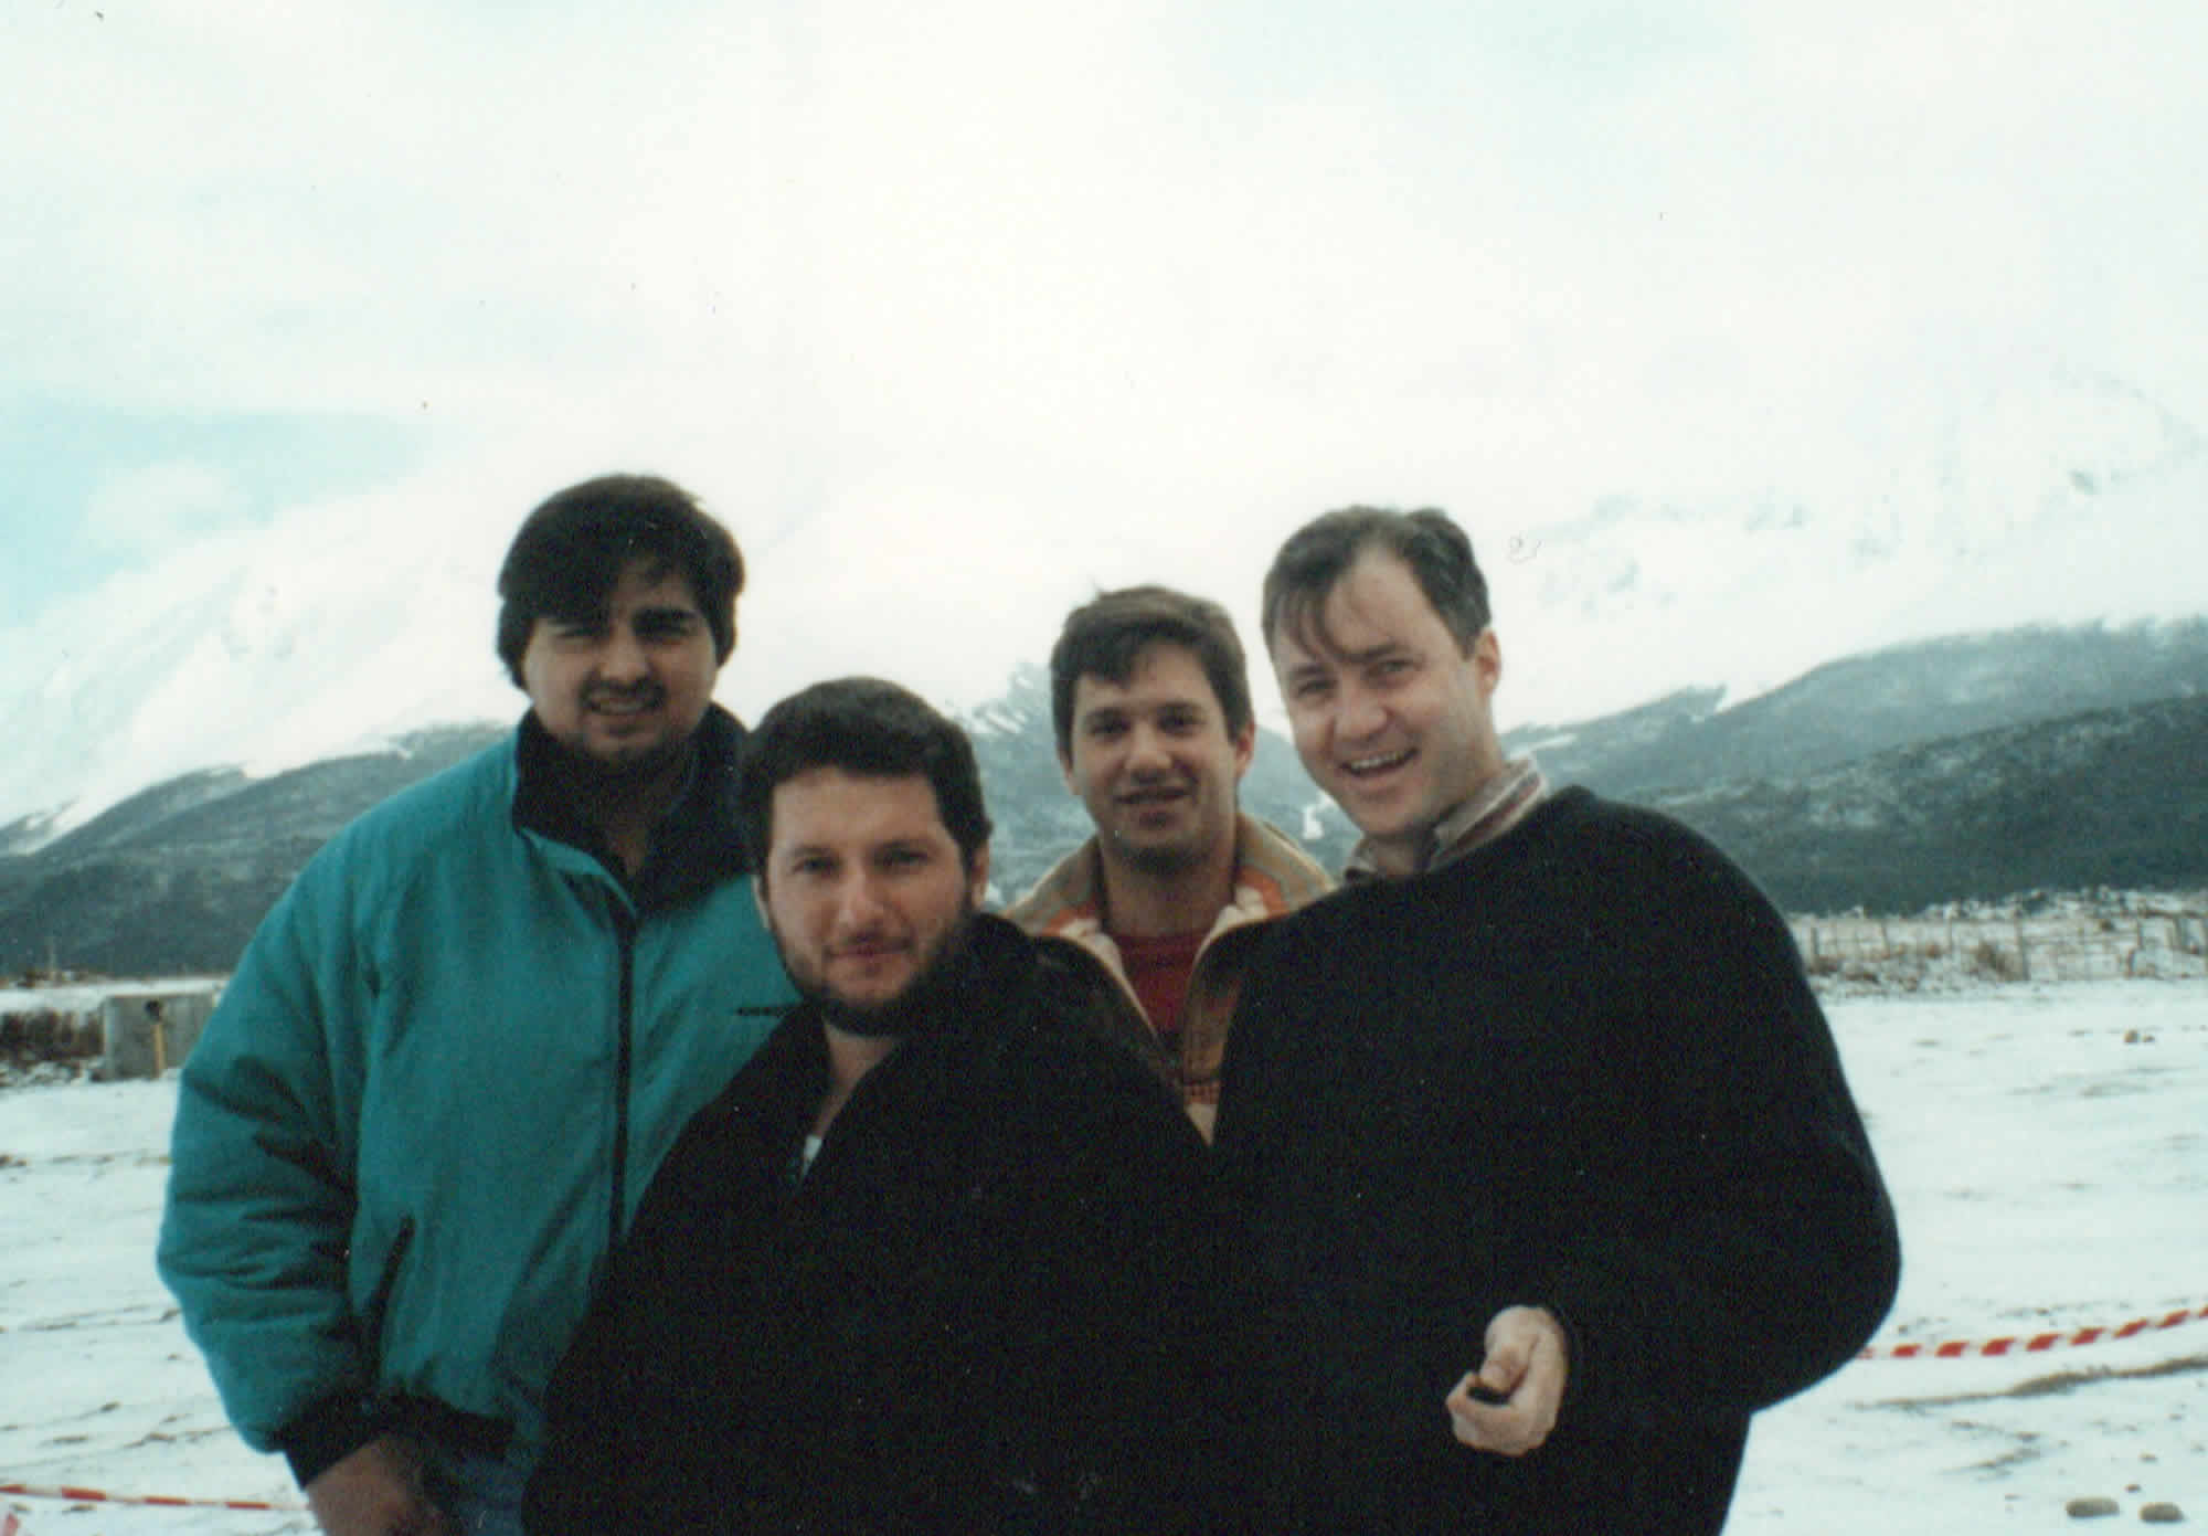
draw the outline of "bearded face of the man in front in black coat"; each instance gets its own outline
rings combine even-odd
[[[775,786],[760,909],[782,964],[852,1033],[899,1033],[896,1004],[956,949],[989,887],[921,775],[808,768]]]

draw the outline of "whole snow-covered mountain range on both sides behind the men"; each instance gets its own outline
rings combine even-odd
[[[2208,611],[2208,439],[2137,391],[2029,373],[1943,395],[1886,441],[1903,446],[1744,490],[1713,446],[1709,488],[1610,497],[1543,525],[1455,505],[1490,569],[1504,724],[1592,719],[1689,686],[1733,708],[1894,642]],[[0,852],[183,772],[265,775],[512,719],[521,700],[490,655],[512,505],[404,488],[302,508],[0,631]],[[874,669],[952,704],[1040,660],[1064,607],[1055,583],[1007,580],[1002,550],[974,569],[938,561],[892,616],[881,580],[839,574],[866,543],[828,519],[766,541],[755,572],[779,569],[744,598],[724,697],[777,697],[817,675],[804,669],[819,653],[843,655],[828,640],[850,631],[879,636]],[[1201,572],[1155,576],[1206,589]],[[1248,594],[1219,596],[1248,616]],[[932,671],[919,631],[938,629],[956,631],[965,682]]]

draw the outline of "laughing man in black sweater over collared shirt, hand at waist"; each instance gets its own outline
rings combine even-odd
[[[1365,834],[1225,1064],[1265,1525],[1718,1532],[1749,1415],[1850,1359],[1899,1276],[1784,920],[1687,828],[1504,759],[1444,514],[1305,525],[1263,625]]]

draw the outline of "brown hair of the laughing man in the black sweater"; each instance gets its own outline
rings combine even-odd
[[[1314,516],[1289,534],[1265,572],[1265,649],[1274,649],[1283,625],[1298,633],[1318,629],[1325,640],[1318,614],[1367,547],[1387,550],[1411,567],[1426,602],[1448,625],[1457,647],[1471,653],[1493,620],[1488,578],[1473,558],[1473,541],[1440,508],[1342,508]]]

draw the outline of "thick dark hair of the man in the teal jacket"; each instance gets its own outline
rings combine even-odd
[[[543,501],[521,523],[499,567],[499,660],[521,686],[521,653],[539,618],[585,620],[634,558],[658,561],[691,585],[713,631],[713,655],[735,649],[744,556],[698,499],[656,474],[603,474]]]

